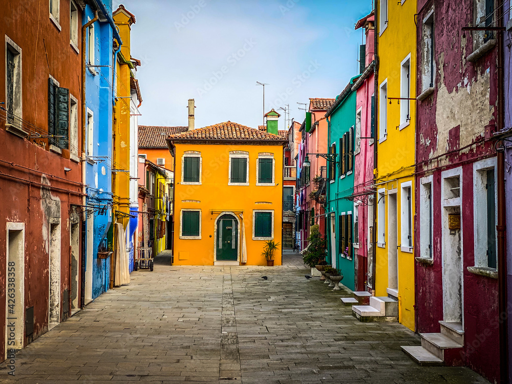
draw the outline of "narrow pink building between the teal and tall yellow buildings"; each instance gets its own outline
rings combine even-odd
[[[373,285],[373,184],[374,168],[374,105],[375,105],[375,16],[372,11],[360,19],[355,29],[364,28],[366,44],[361,46],[361,76],[352,86],[356,91],[356,125],[354,145],[354,235],[358,236],[358,247],[354,246],[355,288],[372,291]],[[363,51],[364,49],[364,51]],[[364,54],[364,57],[362,57]],[[362,65],[364,60],[364,65]],[[357,234],[355,232],[358,232]]]

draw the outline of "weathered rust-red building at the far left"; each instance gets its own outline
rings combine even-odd
[[[50,9],[0,0],[0,9],[4,360],[7,348],[23,348],[80,307],[81,166],[70,157],[81,154],[82,14],[79,2],[63,0]],[[7,317],[16,317],[12,340]]]

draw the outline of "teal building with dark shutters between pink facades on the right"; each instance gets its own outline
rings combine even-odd
[[[356,92],[353,77],[327,111],[329,153],[336,154],[336,163],[328,163],[327,222],[328,259],[343,273],[342,283],[354,290],[354,218],[350,197],[354,191],[354,135]]]

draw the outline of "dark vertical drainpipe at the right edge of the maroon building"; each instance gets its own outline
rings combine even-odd
[[[503,7],[498,7],[498,26],[503,27]],[[498,34],[498,132],[503,130],[505,111],[504,101],[504,52],[503,32]],[[508,335],[507,335],[507,260],[506,260],[506,218],[505,218],[505,148],[497,151],[497,237],[498,237],[498,316],[499,316],[499,343],[500,343],[500,382],[508,382]],[[502,318],[502,315],[504,318]]]

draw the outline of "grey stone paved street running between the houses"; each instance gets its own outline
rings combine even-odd
[[[131,275],[16,355],[19,382],[486,382],[466,368],[420,367],[419,337],[359,323],[300,257],[282,267],[171,267]],[[268,280],[262,276],[268,276]],[[6,364],[0,381],[9,382]]]

